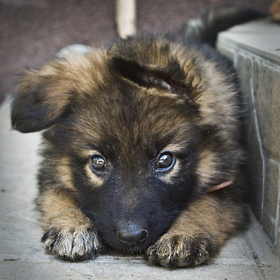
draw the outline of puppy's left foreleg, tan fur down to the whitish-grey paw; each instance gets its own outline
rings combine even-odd
[[[94,224],[78,208],[69,190],[44,190],[38,198],[42,211],[42,241],[49,253],[64,260],[94,258],[102,243]]]

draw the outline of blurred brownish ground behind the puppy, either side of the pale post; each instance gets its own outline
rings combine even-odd
[[[178,30],[220,4],[273,10],[272,0],[139,0],[137,31]],[[18,73],[48,62],[66,45],[106,45],[117,38],[114,0],[0,0],[0,102]],[[275,8],[274,8],[275,9]],[[280,10],[279,10],[280,11]]]

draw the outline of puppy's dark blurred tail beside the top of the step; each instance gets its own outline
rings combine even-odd
[[[218,32],[265,16],[266,13],[248,6],[221,6],[209,9],[201,18],[186,22],[183,28],[184,39],[215,46]]]

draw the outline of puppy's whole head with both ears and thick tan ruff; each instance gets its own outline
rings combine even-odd
[[[75,190],[106,244],[143,251],[191,200],[234,179],[233,93],[202,52],[127,38],[23,73],[11,118],[45,130],[41,179]]]

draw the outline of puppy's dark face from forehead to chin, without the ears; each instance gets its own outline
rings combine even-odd
[[[104,241],[122,250],[140,250],[172,225],[191,197],[197,132],[172,98],[159,98],[125,80],[119,83],[118,90],[99,89],[106,103],[85,100],[80,112],[73,106],[78,115],[71,120],[72,132],[62,125],[46,137],[67,135],[73,141],[62,140],[67,149],[74,144],[73,160],[80,158],[81,164],[71,169],[74,185]],[[174,108],[166,111],[167,104]],[[139,232],[139,240],[129,236],[120,240],[130,232]]]

